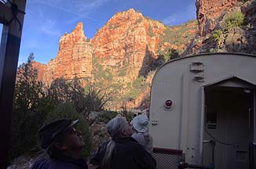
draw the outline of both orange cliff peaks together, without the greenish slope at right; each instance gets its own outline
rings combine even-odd
[[[126,67],[130,70],[126,77],[132,81],[150,70],[148,64],[157,58],[164,30],[162,23],[145,19],[134,9],[116,13],[88,42],[82,23],[78,23],[74,31],[60,38],[57,57],[44,70],[38,67],[39,72],[44,71],[39,78],[49,83],[57,77],[91,77],[94,57],[104,67],[111,67],[114,75]]]

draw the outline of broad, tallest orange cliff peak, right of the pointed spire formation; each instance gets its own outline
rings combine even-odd
[[[145,19],[134,9],[116,13],[91,39],[94,56],[106,67],[112,67],[114,74],[126,67],[126,77],[134,79],[146,74],[149,63],[156,59],[164,30],[162,23]]]

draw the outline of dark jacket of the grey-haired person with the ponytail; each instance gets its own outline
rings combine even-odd
[[[134,138],[115,139],[115,143],[112,169],[155,169],[155,160],[151,154]],[[104,142],[97,150],[97,153],[91,158],[90,164],[101,166],[107,145],[108,142]]]

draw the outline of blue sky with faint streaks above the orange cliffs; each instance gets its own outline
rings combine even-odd
[[[130,8],[143,16],[177,25],[196,19],[196,0],[27,0],[19,64],[30,52],[35,60],[48,63],[57,56],[58,42],[82,22],[87,38],[115,14]],[[0,26],[2,31],[2,26]]]

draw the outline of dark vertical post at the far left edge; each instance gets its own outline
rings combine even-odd
[[[13,0],[18,9],[25,11],[26,0]],[[2,5],[5,11],[1,16],[13,17],[10,7]],[[7,13],[6,13],[7,12]],[[4,15],[3,15],[4,13]],[[20,24],[17,20],[20,21]],[[13,112],[13,91],[16,79],[16,69],[20,52],[20,38],[24,22],[24,13],[18,13],[11,23],[2,29],[0,47],[0,168],[6,168],[8,163],[9,141],[11,132],[11,115]],[[21,27],[20,27],[21,26]]]

